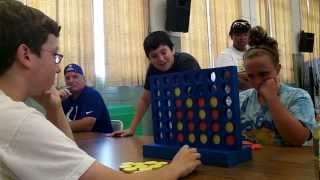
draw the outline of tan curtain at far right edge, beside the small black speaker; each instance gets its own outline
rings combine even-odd
[[[320,1],[300,0],[301,30],[314,33],[313,53],[304,53],[304,60],[320,58]]]

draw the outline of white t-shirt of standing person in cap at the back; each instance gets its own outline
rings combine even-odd
[[[239,51],[236,48],[226,48],[215,60],[215,67],[237,66],[238,72],[245,71],[243,66],[244,51]]]

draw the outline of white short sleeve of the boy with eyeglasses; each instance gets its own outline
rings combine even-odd
[[[5,149],[4,162],[19,179],[79,179],[95,161],[45,117],[32,112]]]

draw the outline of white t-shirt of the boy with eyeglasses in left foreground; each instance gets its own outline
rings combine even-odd
[[[43,114],[0,90],[0,179],[79,179],[95,161]]]

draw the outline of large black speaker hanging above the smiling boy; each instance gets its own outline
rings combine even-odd
[[[191,0],[167,0],[166,30],[188,32]]]

